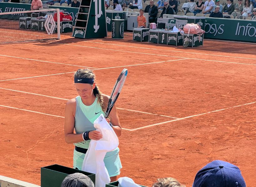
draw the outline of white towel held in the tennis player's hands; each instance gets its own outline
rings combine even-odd
[[[110,177],[103,159],[106,152],[114,151],[118,147],[119,141],[113,128],[110,127],[102,114],[94,121],[94,127],[101,132],[102,138],[91,140],[82,170],[96,174],[95,187],[105,187],[106,184],[110,183]]]

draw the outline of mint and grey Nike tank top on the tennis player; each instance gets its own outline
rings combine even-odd
[[[96,97],[95,101],[90,106],[86,106],[80,96],[76,97],[76,114],[75,114],[75,132],[76,134],[81,134],[86,131],[94,131],[93,122],[101,115],[105,116],[102,111],[101,105]],[[82,141],[79,143],[74,143],[77,147],[82,147],[85,149],[89,148],[91,140]]]

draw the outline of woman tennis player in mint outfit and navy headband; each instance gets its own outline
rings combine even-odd
[[[73,167],[81,170],[85,153],[89,148],[90,140],[100,140],[102,134],[96,131],[93,122],[103,114],[109,96],[102,94],[96,87],[95,74],[89,69],[79,69],[74,74],[75,88],[78,93],[76,98],[70,99],[65,108],[65,141],[75,144]],[[111,110],[109,119],[106,119],[116,133],[121,136],[121,126],[117,115],[116,106]],[[74,133],[75,130],[75,133]],[[106,153],[104,163],[111,182],[117,180],[122,168],[119,158],[119,148]]]

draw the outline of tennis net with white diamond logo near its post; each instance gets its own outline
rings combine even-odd
[[[60,39],[59,9],[0,13],[0,43]]]

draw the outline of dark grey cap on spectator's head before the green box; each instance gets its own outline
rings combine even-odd
[[[94,184],[88,176],[82,173],[73,173],[65,177],[61,187],[94,187]]]

